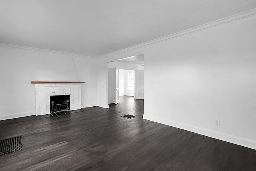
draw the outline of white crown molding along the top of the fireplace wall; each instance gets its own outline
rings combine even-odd
[[[96,58],[94,58],[94,57],[84,56],[84,55],[77,55],[77,54],[72,54],[72,53],[69,53],[69,52],[62,52],[62,51],[57,51],[57,50],[31,48],[31,47],[27,47],[27,46],[5,44],[5,43],[1,43],[1,42],[0,42],[0,46],[10,47],[10,48],[18,48],[18,49],[24,49],[24,50],[34,50],[34,51],[40,51],[40,52],[50,52],[50,53],[56,53],[56,54],[64,54],[64,55],[70,55],[70,56],[75,56],[75,57],[81,57],[81,58],[88,58],[88,59],[96,60]]]

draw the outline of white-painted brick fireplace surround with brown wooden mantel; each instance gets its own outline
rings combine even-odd
[[[36,90],[36,115],[50,113],[50,96],[70,95],[70,110],[81,109],[81,87],[84,82],[31,82]]]

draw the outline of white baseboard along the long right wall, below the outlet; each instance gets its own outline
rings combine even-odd
[[[186,131],[191,131],[191,132],[194,132],[194,133],[205,135],[207,137],[212,137],[212,138],[215,138],[215,139],[220,139],[222,141],[227,141],[229,143],[242,145],[244,147],[248,147],[248,148],[251,148],[251,149],[256,149],[256,141],[254,141],[252,139],[238,137],[238,136],[235,136],[235,135],[230,135],[230,134],[227,134],[227,133],[213,131],[213,130],[210,130],[210,129],[204,129],[202,127],[196,127],[194,125],[188,125],[188,124],[185,124],[185,123],[180,123],[180,122],[171,121],[171,120],[167,120],[167,119],[162,119],[162,118],[158,118],[158,117],[143,115],[143,119],[147,119],[147,120],[150,120],[150,121],[162,123],[164,125],[169,125],[169,126],[172,126],[172,127],[177,127],[177,128],[180,128],[180,129],[184,129]]]

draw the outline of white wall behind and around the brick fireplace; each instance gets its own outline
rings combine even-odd
[[[84,81],[82,107],[95,106],[95,64],[96,60],[68,53],[0,44],[0,120],[35,114],[31,81]]]

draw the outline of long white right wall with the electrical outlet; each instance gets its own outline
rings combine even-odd
[[[250,16],[101,62],[144,54],[144,119],[256,149],[255,40]]]

